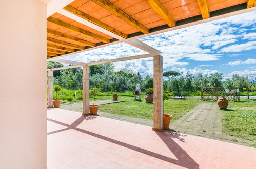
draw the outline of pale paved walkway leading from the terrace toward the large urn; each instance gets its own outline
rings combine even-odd
[[[222,133],[222,112],[217,104],[200,103],[182,116],[170,128],[181,133],[192,134],[237,144],[252,144],[252,141]]]

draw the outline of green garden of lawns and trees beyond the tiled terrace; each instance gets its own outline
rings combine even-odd
[[[61,67],[62,64],[48,62],[48,68]],[[68,104],[83,102],[82,69],[54,71],[54,99],[61,99]],[[249,89],[249,95],[255,96],[254,85],[246,76],[233,75],[231,79],[223,79],[221,73],[211,75],[183,74],[168,71],[163,74],[163,88],[169,91],[169,98],[164,100],[164,112],[172,115],[171,123],[180,119],[202,102],[198,97],[186,97],[185,100],[172,99],[172,96],[200,96],[201,87],[232,87],[240,89],[240,95],[247,95],[244,88]],[[136,84],[141,84],[142,101],[134,101]],[[145,96],[152,94],[152,75],[140,75],[129,69],[114,71],[113,64],[90,66],[90,88],[96,88],[95,100],[112,100],[113,94],[119,95],[118,100],[124,102],[105,104],[100,112],[129,116],[141,119],[153,119],[153,103],[146,103]],[[90,90],[91,90],[90,89]],[[93,101],[93,97],[90,97]],[[250,102],[243,102],[250,101]],[[254,101],[254,102],[253,102]],[[242,98],[241,102],[230,102],[228,109],[222,112],[222,133],[250,141],[256,140],[256,103],[255,99]],[[67,104],[66,103],[66,104]],[[216,102],[208,101],[216,104]],[[62,108],[62,106],[61,106]],[[235,140],[235,139],[234,139]],[[248,146],[255,147],[255,141]]]

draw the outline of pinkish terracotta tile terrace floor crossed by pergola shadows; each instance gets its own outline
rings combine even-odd
[[[256,149],[48,109],[48,168],[256,168]]]

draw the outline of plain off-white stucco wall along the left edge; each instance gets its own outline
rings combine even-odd
[[[0,4],[0,168],[46,168],[46,4]]]

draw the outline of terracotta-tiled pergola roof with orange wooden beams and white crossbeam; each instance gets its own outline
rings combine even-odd
[[[211,17],[252,11],[255,7],[245,9],[255,6],[256,1],[65,0],[56,9],[52,4],[48,4],[48,60],[120,42],[160,54],[136,38],[207,22]],[[234,13],[237,11],[243,12]]]

